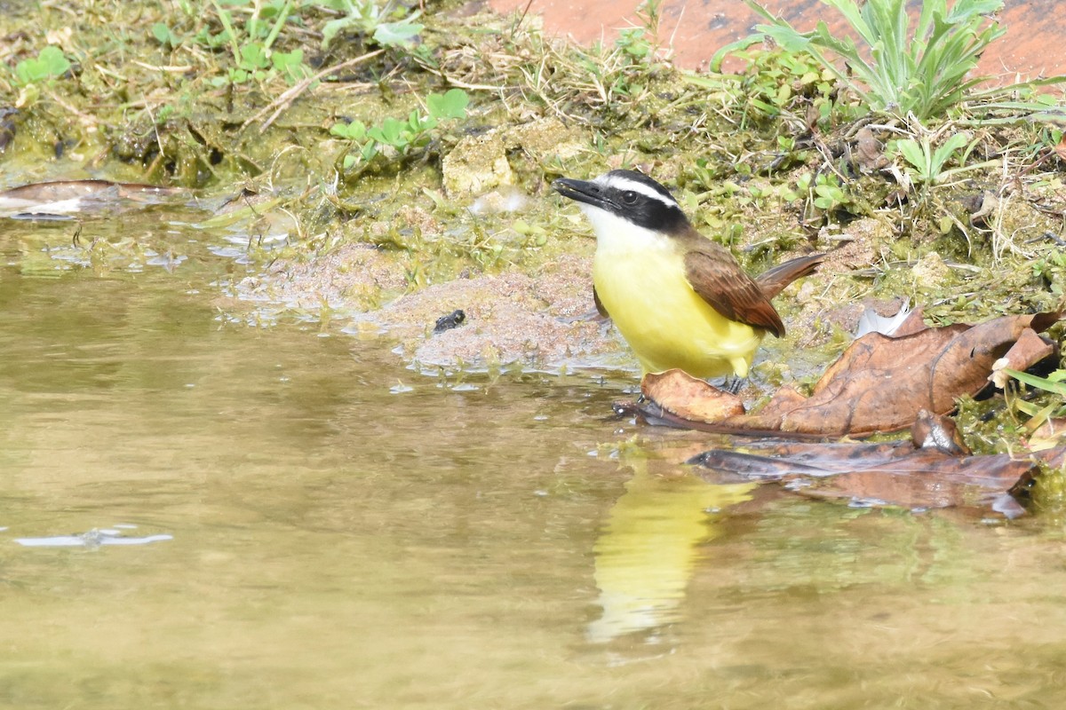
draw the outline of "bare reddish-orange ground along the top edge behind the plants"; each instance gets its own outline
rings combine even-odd
[[[641,0],[489,0],[500,13],[544,16],[552,33],[570,34],[581,43],[617,36],[619,28],[639,26]],[[766,7],[782,15],[793,27],[810,30],[824,19],[834,33],[843,33],[840,15],[820,0],[768,0]],[[911,13],[920,2],[909,3]],[[1057,7],[1056,7],[1057,5]],[[1059,12],[1055,12],[1055,11]],[[1035,79],[1066,73],[1066,3],[1063,0],[1006,0],[1000,23],[1006,35],[994,43],[982,57],[982,73],[1002,81]],[[705,68],[723,45],[750,34],[758,18],[740,0],[664,0],[659,39],[673,47],[678,66]],[[1018,75],[1018,77],[1016,77]]]

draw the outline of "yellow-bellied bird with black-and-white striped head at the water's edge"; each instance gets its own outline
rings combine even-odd
[[[645,374],[677,367],[700,378],[746,377],[763,335],[785,334],[770,299],[823,259],[793,259],[753,279],[645,175],[611,170],[592,181],[560,178],[552,187],[592,222],[596,308]]]

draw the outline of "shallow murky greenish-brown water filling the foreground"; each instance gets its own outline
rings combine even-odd
[[[0,707],[1066,701],[1047,521],[713,486],[626,376],[456,389],[220,310],[221,236],[94,229],[156,255],[0,231]]]

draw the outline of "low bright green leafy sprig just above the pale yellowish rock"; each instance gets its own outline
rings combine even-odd
[[[461,88],[452,88],[443,94],[430,94],[425,99],[427,114],[417,110],[407,115],[406,120],[387,117],[376,126],[362,121],[337,122],[329,129],[332,135],[355,144],[355,150],[344,155],[345,172],[366,166],[388,146],[400,155],[422,147],[430,141],[431,132],[441,121],[466,118],[470,97]]]

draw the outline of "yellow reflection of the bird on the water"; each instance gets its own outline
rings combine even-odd
[[[643,459],[632,466],[634,475],[594,547],[603,614],[588,625],[588,639],[597,643],[676,621],[696,548],[718,534],[708,510],[749,500],[758,485],[653,476]]]

